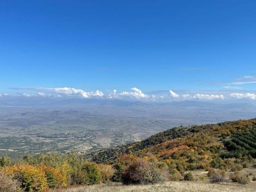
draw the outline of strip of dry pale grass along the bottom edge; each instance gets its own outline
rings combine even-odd
[[[155,185],[122,185],[118,183],[57,189],[53,192],[255,192],[256,182],[248,185],[237,183],[212,184],[206,182],[176,181]]]

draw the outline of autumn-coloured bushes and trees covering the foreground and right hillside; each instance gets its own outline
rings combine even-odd
[[[222,183],[228,182],[227,171],[234,172],[230,174],[233,182],[247,184],[256,179],[249,174],[242,174],[242,170],[248,168],[253,161],[253,150],[245,148],[253,145],[245,145],[243,138],[249,138],[247,135],[253,136],[256,133],[255,127],[256,119],[179,127],[153,135],[148,140],[123,146],[110,158],[107,158],[109,154],[106,151],[112,149],[101,151],[100,160],[106,161],[100,164],[88,161],[88,156],[79,156],[72,152],[62,155],[26,154],[18,161],[12,161],[5,155],[0,158],[0,166],[1,172],[10,181],[19,183],[24,191],[95,185],[111,181],[126,185],[156,184],[167,180],[205,182],[206,174],[212,183]],[[243,146],[241,140],[245,143]],[[244,148],[243,151],[231,149],[231,145],[226,145],[228,141],[236,142],[238,148]],[[119,154],[120,150],[124,154]],[[206,169],[208,173],[205,176],[193,175],[192,172],[197,169]]]

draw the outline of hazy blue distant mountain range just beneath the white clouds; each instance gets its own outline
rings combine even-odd
[[[101,105],[101,106],[118,106],[118,107],[210,107],[210,108],[254,108],[255,105],[250,103],[215,103],[202,101],[173,101],[173,102],[140,102],[126,101],[119,99],[63,99],[51,97],[4,97],[0,99],[2,107],[28,107],[28,106],[83,106],[83,105]]]

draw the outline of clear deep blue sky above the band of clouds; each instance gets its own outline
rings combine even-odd
[[[253,0],[1,1],[0,94],[17,92],[10,87],[251,93],[255,9]]]

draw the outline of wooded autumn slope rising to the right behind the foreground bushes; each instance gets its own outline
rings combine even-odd
[[[136,154],[140,157],[154,156],[161,161],[168,160],[170,157],[175,159],[173,157],[175,155],[176,157],[190,155],[196,159],[200,159],[202,155],[205,155],[205,157],[211,156],[209,162],[212,162],[212,159],[227,154],[228,146],[224,145],[224,143],[227,143],[227,140],[230,140],[233,134],[247,132],[254,128],[256,128],[256,119],[175,127],[152,135],[140,142],[93,152],[88,154],[87,158],[97,163],[113,163],[118,157],[128,153]],[[245,148],[240,149],[243,150]],[[176,151],[179,151],[179,154]],[[187,151],[190,151],[190,154]],[[180,160],[178,157],[177,159]],[[193,162],[193,160],[190,161]]]

